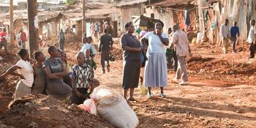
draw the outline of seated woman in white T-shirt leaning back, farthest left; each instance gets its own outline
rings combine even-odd
[[[0,79],[5,78],[7,75],[16,75],[20,77],[20,81],[16,86],[14,99],[31,94],[31,87],[34,83],[32,66],[34,65],[34,60],[29,58],[29,52],[25,48],[21,48],[19,50],[18,56],[20,56],[20,60],[15,65],[7,69],[6,72],[1,73],[0,76]],[[15,72],[16,70],[18,70],[18,73]]]

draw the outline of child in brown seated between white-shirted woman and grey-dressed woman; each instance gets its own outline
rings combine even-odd
[[[42,62],[45,61],[45,55],[42,51],[36,51],[34,53],[34,59],[36,59],[36,63],[34,64],[34,85],[32,87],[32,93],[45,94],[46,73],[42,67]]]

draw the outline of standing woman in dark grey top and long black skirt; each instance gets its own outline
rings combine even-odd
[[[133,92],[138,88],[140,77],[141,51],[140,41],[133,36],[134,26],[132,22],[125,24],[127,32],[121,36],[121,48],[123,49],[123,83],[124,99],[127,99],[129,89],[129,101],[135,101]]]

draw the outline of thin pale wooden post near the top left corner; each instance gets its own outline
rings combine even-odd
[[[13,0],[10,0],[10,44],[12,45],[14,45],[13,29]]]

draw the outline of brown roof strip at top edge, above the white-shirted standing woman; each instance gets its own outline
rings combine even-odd
[[[190,4],[192,1],[195,0],[165,0],[153,3],[151,4],[151,6],[170,7],[175,6],[177,4]]]

